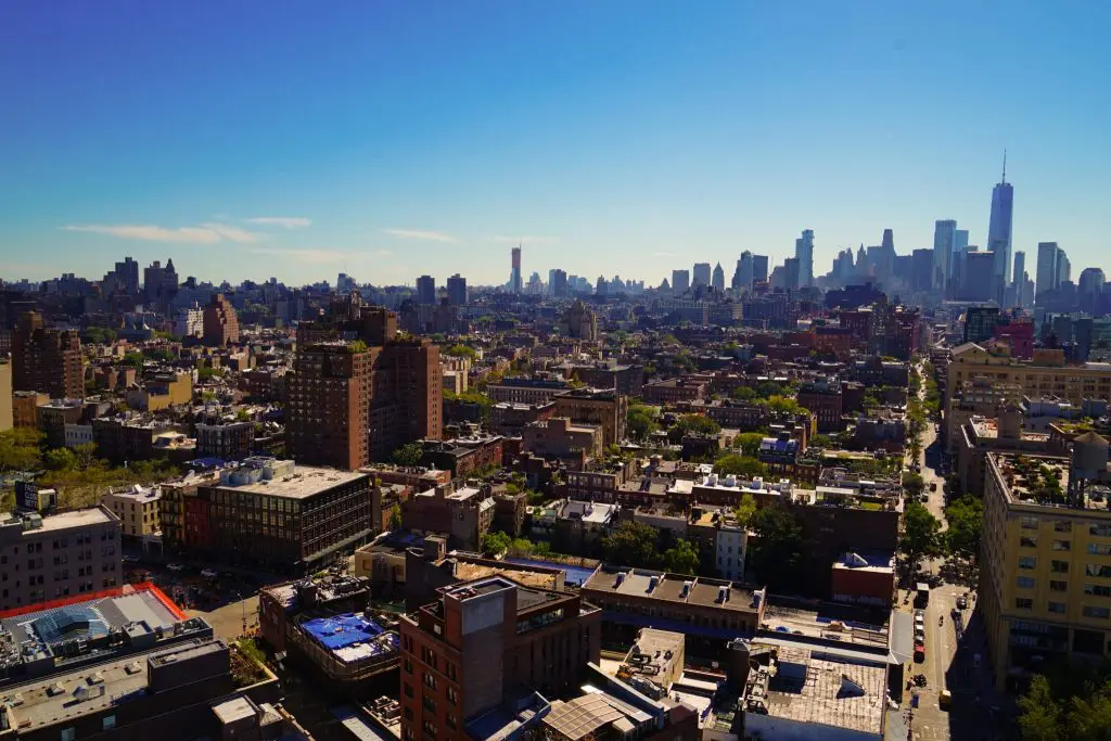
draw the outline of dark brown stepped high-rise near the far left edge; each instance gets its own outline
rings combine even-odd
[[[84,366],[77,332],[46,329],[42,316],[28,311],[11,337],[13,391],[42,391],[53,399],[84,397]]]

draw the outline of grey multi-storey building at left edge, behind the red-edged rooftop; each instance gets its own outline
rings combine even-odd
[[[0,610],[122,583],[120,520],[106,507],[0,521]]]

